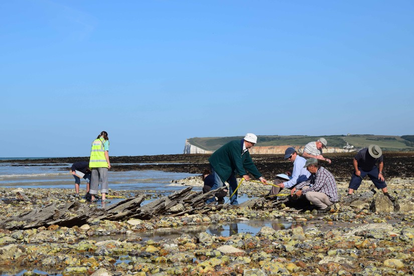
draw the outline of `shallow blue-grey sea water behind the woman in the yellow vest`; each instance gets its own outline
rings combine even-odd
[[[116,166],[116,164],[113,164]],[[63,188],[74,189],[75,180],[70,173],[72,164],[21,164],[0,163],[0,187]],[[112,190],[177,191],[182,186],[172,185],[172,180],[195,176],[189,173],[172,173],[155,170],[114,172],[108,171],[109,188]],[[81,190],[86,181],[81,179]],[[201,187],[193,188],[194,191]]]

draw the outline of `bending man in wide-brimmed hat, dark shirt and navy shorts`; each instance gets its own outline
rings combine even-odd
[[[378,163],[378,166],[376,165]],[[362,183],[362,179],[368,175],[372,183],[374,183],[377,189],[381,189],[385,196],[391,201],[394,201],[394,197],[388,194],[387,184],[385,183],[384,176],[382,175],[382,169],[384,168],[384,162],[382,157],[381,148],[377,145],[369,145],[368,148],[360,150],[353,160],[354,173],[349,183],[348,195],[352,195],[354,190],[358,190]]]

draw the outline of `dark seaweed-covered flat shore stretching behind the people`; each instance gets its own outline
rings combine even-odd
[[[414,177],[414,152],[384,152],[384,177],[390,178]],[[324,155],[325,156],[325,155]],[[332,164],[321,164],[326,167],[339,181],[349,181],[355,153],[326,154]],[[111,171],[158,170],[176,173],[201,174],[209,169],[210,154],[177,154],[155,156],[121,156],[110,157]],[[254,164],[266,179],[274,179],[277,174],[292,170],[292,164],[284,160],[281,154],[252,155]],[[0,160],[1,163],[16,163],[18,166],[36,166],[34,164],[72,164],[77,161],[89,161],[89,157]],[[145,164],[148,163],[148,164]]]

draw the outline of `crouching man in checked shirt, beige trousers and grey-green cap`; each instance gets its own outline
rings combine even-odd
[[[316,158],[308,159],[305,163],[311,177],[292,189],[292,197],[305,195],[306,199],[319,208],[319,213],[326,213],[338,201],[338,189],[335,177],[324,167],[318,165]]]

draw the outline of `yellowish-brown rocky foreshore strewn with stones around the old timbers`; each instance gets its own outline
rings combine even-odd
[[[71,228],[51,225],[28,230],[0,229],[0,271],[23,275],[406,275],[414,273],[414,179],[387,179],[394,203],[364,181],[328,214],[276,209],[221,208],[208,214],[154,217],[150,220],[93,220]],[[197,178],[176,185],[201,185]],[[198,184],[197,184],[198,183]],[[269,186],[244,183],[240,193],[257,197]],[[23,191],[28,200],[16,200]],[[139,193],[135,191],[136,193]],[[134,191],[119,191],[134,196]],[[67,204],[71,190],[0,188],[0,220]],[[83,199],[82,199],[83,200]],[[263,201],[265,201],[263,199]],[[265,203],[264,205],[265,206]],[[91,204],[90,208],[97,208]],[[68,214],[68,218],[71,214]],[[143,240],[140,233],[176,227],[203,227],[238,220],[291,221],[292,228],[263,227],[257,234],[215,236],[200,232]],[[114,238],[116,237],[116,238]],[[44,272],[42,272],[44,271]]]

